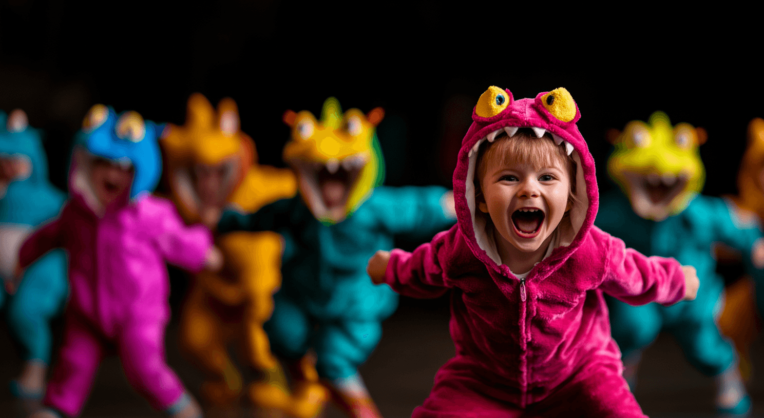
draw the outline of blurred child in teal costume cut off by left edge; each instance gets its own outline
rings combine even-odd
[[[34,227],[61,210],[66,195],[50,184],[40,132],[28,126],[24,111],[0,111],[0,274],[13,278],[18,249]],[[11,392],[24,399],[43,396],[50,364],[50,320],[66,303],[66,256],[53,251],[24,273],[24,285],[8,298],[8,327],[20,343],[24,368]],[[10,289],[9,289],[10,290]],[[0,307],[5,294],[0,291]]]

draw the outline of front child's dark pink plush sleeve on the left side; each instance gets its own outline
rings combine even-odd
[[[422,244],[414,252],[393,249],[384,281],[393,291],[420,299],[439,297],[448,291],[433,243]]]

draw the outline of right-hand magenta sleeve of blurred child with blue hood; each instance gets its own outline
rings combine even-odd
[[[190,227],[169,201],[159,207],[157,248],[172,265],[199,272],[204,268],[207,252],[212,247],[212,233],[203,225]]]

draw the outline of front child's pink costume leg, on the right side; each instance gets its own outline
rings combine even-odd
[[[532,405],[528,416],[647,418],[620,375],[619,365],[595,363],[552,395]]]

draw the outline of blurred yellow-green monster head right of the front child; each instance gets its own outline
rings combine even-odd
[[[705,169],[698,151],[706,141],[703,128],[672,127],[669,117],[656,111],[648,123],[632,121],[623,132],[611,130],[608,138],[615,150],[607,172],[640,217],[660,221],[678,214],[703,188]]]

